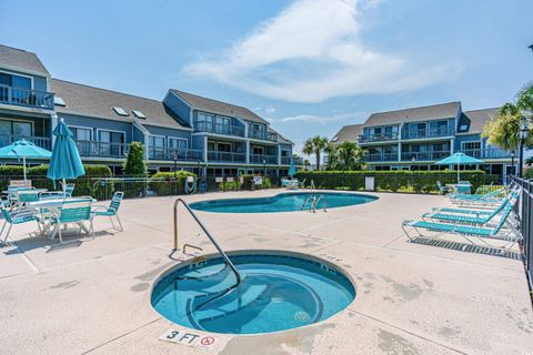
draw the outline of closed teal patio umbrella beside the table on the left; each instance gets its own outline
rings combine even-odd
[[[58,126],[53,130],[53,135],[56,135],[56,142],[53,143],[52,159],[50,160],[47,178],[62,180],[64,193],[67,187],[66,180],[84,175],[86,170],[81,163],[78,146],[72,140],[72,132],[63,119],[59,121]]]

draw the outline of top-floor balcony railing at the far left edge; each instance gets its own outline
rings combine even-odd
[[[53,110],[53,93],[0,84],[0,103]]]

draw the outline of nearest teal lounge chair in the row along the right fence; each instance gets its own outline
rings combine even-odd
[[[409,237],[410,241],[414,241],[416,237],[429,237],[429,239],[436,239],[442,234],[456,234],[463,236],[466,241],[474,244],[470,237],[479,237],[479,240],[483,241],[484,239],[496,239],[503,240],[507,243],[503,246],[493,246],[491,247],[499,247],[504,251],[507,251],[512,247],[517,241],[522,239],[522,234],[517,231],[515,224],[511,221],[511,212],[513,211],[514,203],[507,203],[505,209],[502,212],[502,216],[500,222],[491,227],[486,224],[480,226],[472,226],[465,225],[462,223],[440,223],[440,222],[432,222],[432,221],[413,221],[408,220],[402,222],[402,230],[405,235]],[[406,229],[412,227],[419,235],[411,236]],[[420,233],[420,230],[426,230],[430,232],[435,232],[435,236],[424,235]],[[484,241],[483,241],[484,242]],[[485,243],[485,242],[484,242]]]

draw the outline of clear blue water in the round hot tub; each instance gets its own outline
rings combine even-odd
[[[292,255],[230,256],[242,282],[220,257],[178,268],[152,291],[152,306],[187,327],[228,334],[290,329],[326,320],[355,297],[338,270]]]

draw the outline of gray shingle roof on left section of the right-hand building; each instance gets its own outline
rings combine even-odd
[[[405,110],[372,113],[364,123],[365,126],[415,122],[423,120],[438,120],[457,115],[461,102],[449,102],[429,106]]]

